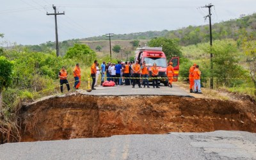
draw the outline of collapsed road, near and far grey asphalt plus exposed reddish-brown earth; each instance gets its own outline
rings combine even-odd
[[[20,124],[21,141],[35,142],[0,145],[0,159],[256,159],[255,103],[176,85],[49,96],[23,104]]]

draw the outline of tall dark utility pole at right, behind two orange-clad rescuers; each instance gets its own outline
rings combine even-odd
[[[209,15],[206,15],[204,18],[205,20],[207,19],[207,17],[209,17],[209,26],[210,26],[210,45],[211,45],[211,49],[210,51],[212,51],[212,21],[211,21],[211,7],[214,6],[212,5],[211,3],[209,5],[205,5],[205,6],[202,6],[202,8],[209,8]],[[210,52],[211,54],[211,73],[213,73],[213,62],[212,62],[212,52]],[[211,86],[211,89],[213,89],[213,77],[212,77],[212,74],[211,74],[211,81],[210,81],[210,86]]]

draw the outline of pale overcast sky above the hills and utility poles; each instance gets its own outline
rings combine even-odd
[[[105,33],[173,30],[208,24],[204,15],[212,3],[212,22],[255,13],[255,0],[1,0],[0,33],[17,44],[55,41],[52,4],[57,6],[59,40],[86,38]]]

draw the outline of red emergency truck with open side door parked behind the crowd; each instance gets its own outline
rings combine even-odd
[[[154,63],[156,63],[157,67],[159,67],[159,80],[164,84],[164,86],[168,85],[168,79],[166,78],[166,67],[168,63],[172,61],[174,68],[173,81],[178,80],[179,57],[173,57],[170,61],[167,61],[162,47],[140,47],[136,49],[135,53],[135,61],[138,60],[140,64],[143,61],[146,61],[146,64],[149,67],[149,77],[152,76],[150,68]]]

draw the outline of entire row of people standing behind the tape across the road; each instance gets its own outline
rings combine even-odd
[[[166,68],[166,76],[168,77],[168,86],[172,88],[172,81],[173,81],[173,74],[174,70],[172,67],[173,63],[170,62],[168,64],[168,67]],[[150,68],[152,72],[151,78],[153,79],[153,88],[159,88],[158,86],[158,74],[159,70],[157,67],[157,64],[154,63],[153,66]],[[146,65],[146,62],[143,61],[143,63],[140,65],[139,61],[137,60],[136,63],[127,62],[125,61],[125,64],[121,64],[120,61],[118,61],[117,64],[109,62],[106,65],[106,62],[103,61],[99,68],[99,63],[97,63],[97,60],[94,61],[91,67],[91,77],[92,77],[92,90],[95,89],[95,83],[97,85],[97,80],[99,79],[99,74],[101,74],[101,83],[102,85],[104,83],[105,75],[107,76],[108,81],[114,81],[117,85],[123,85],[122,84],[122,77],[125,78],[125,85],[131,85],[132,88],[136,84],[138,84],[139,88],[141,87],[140,79],[143,79],[143,86],[147,85],[147,88],[150,88],[148,85],[148,78],[149,78],[149,67]],[[194,64],[192,67],[189,68],[189,88],[191,93],[202,93],[201,92],[201,86],[200,86],[200,75],[201,72],[199,70],[199,66]],[[81,84],[81,68],[79,67],[79,63],[76,64],[76,67],[73,70],[73,76],[75,79],[74,83],[74,89],[78,90],[79,86]],[[67,70],[65,70],[65,67],[62,67],[59,72],[60,77],[60,90],[63,92],[63,84],[67,85],[68,91],[70,90],[70,86],[67,81]]]

